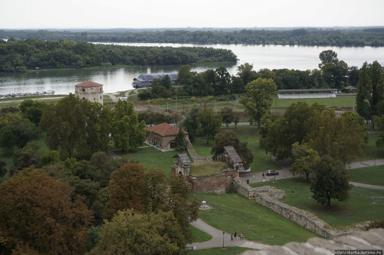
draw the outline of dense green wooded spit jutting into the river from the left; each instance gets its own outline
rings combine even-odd
[[[237,61],[231,50],[206,47],[147,47],[93,44],[86,41],[0,40],[0,72],[39,68],[114,65],[177,65]]]

